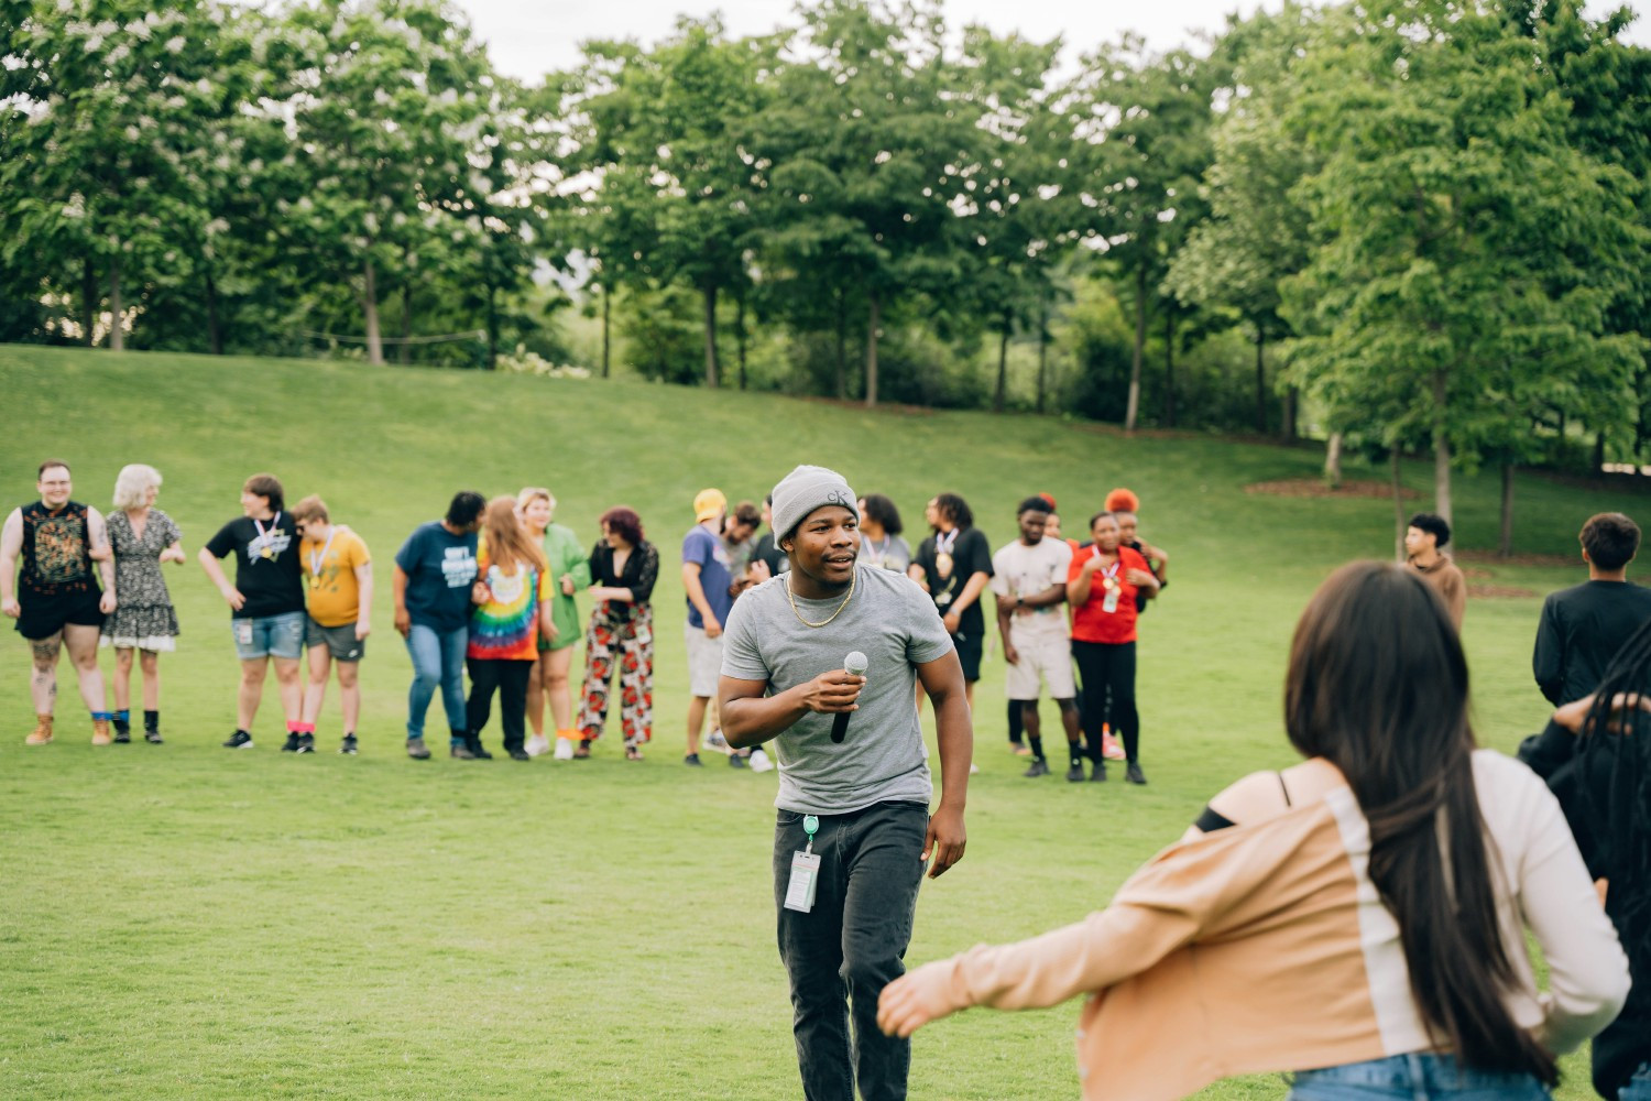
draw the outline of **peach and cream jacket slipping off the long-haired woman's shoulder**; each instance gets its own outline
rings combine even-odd
[[[1086,1101],[1171,1101],[1218,1078],[1431,1051],[1398,924],[1367,877],[1370,834],[1327,761],[1321,799],[1159,853],[1111,906],[944,964],[953,1009],[1035,1009],[1090,992],[1078,1028]],[[1524,764],[1479,749],[1514,1018],[1563,1053],[1628,995],[1628,961],[1559,804]],[[1539,994],[1529,928],[1547,957]]]

